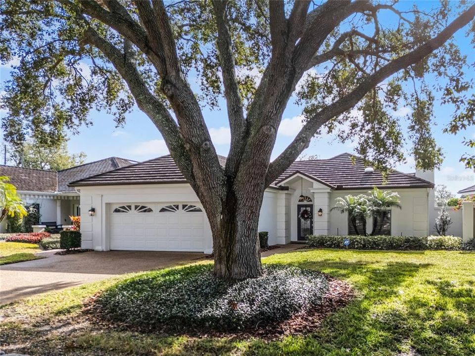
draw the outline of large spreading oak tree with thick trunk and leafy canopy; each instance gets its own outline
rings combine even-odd
[[[61,141],[91,124],[92,108],[108,110],[120,125],[135,101],[206,211],[214,274],[254,277],[262,272],[257,225],[264,189],[314,135],[344,124],[349,130],[339,136],[358,137],[356,151],[382,166],[404,160],[407,132],[416,166],[432,169],[442,159],[431,134],[433,92],[456,104],[455,131],[473,124],[470,113],[462,114],[472,89],[464,80],[470,64],[452,37],[462,28],[473,36],[474,3],[442,1],[429,11],[397,6],[370,0],[3,0],[0,56],[17,56],[20,64],[5,85],[2,129],[10,142],[25,135]],[[260,80],[250,74],[255,71]],[[427,75],[438,77],[435,88]],[[198,78],[198,89],[190,78]],[[295,91],[305,123],[270,162]],[[231,128],[224,167],[201,111],[201,105],[216,108],[223,96]],[[391,115],[401,103],[413,109],[404,130]],[[353,108],[361,115],[352,115]]]

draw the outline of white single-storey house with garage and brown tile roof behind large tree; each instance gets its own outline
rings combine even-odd
[[[335,198],[378,186],[397,191],[402,205],[402,209],[385,213],[382,232],[427,235],[433,211],[429,207],[434,204],[433,179],[433,172],[410,175],[396,171],[388,174],[384,184],[380,171],[365,167],[363,160],[348,153],[296,161],[266,189],[259,231],[269,231],[270,244],[304,240],[311,233],[351,233],[347,214],[331,210]],[[70,186],[80,191],[83,248],[212,251],[206,215],[171,156],[80,179]],[[298,219],[305,208],[313,215],[307,223]],[[371,226],[369,222],[368,230]]]

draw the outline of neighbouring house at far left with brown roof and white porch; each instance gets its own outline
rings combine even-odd
[[[70,182],[134,163],[137,162],[110,157],[58,172],[0,165],[0,176],[10,178],[25,206],[39,207],[42,222],[69,225],[70,215],[80,215],[79,193],[68,186]],[[5,229],[6,219],[0,231]]]

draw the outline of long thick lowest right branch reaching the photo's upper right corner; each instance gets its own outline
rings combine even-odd
[[[351,109],[360,101],[367,92],[374,88],[378,83],[395,74],[399,70],[414,65],[424,59],[427,55],[442,46],[453,34],[467,25],[475,17],[475,5],[463,12],[452,23],[450,23],[437,36],[420,45],[413,51],[394,59],[385,66],[381,67],[373,75],[367,76],[355,89],[347,95],[341,97],[331,105],[320,110],[312,116],[290,143],[284,152],[277,157],[269,166],[266,176],[266,184],[271,184],[277,179],[285,169],[297,159],[298,155],[308,147],[310,140],[325,123],[332,118]]]

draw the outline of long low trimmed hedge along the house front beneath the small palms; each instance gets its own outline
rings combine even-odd
[[[343,241],[348,239],[348,247]],[[461,250],[461,237],[455,236],[330,236],[310,235],[310,247],[352,250]]]

